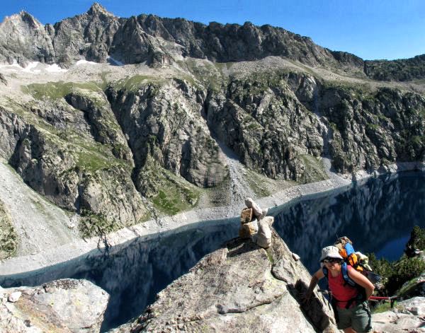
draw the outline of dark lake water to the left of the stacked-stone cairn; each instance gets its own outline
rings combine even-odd
[[[180,232],[140,238],[112,249],[109,256],[81,257],[23,277],[0,277],[0,285],[36,286],[65,277],[88,279],[111,295],[102,326],[105,331],[140,315],[159,291],[186,274],[204,255],[236,237],[237,220],[210,221]]]

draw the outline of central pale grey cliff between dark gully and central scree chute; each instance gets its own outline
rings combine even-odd
[[[147,83],[132,91],[110,88],[112,108],[135,155],[137,187],[148,197],[157,192],[144,176],[152,160],[199,187],[212,187],[227,177],[227,169],[201,117],[199,95],[186,81]]]

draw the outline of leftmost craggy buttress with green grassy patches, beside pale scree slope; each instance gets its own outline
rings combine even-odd
[[[28,111],[39,117],[41,127],[1,110],[1,157],[37,192],[81,214],[85,236],[147,216],[131,180],[132,153],[123,132],[106,98],[91,94],[90,99],[80,90],[67,95],[69,104],[33,105]]]

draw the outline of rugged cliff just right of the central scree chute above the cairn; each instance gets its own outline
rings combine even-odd
[[[319,122],[284,81],[231,81],[225,94],[208,100],[207,118],[243,163],[273,179],[301,180],[302,157],[322,155]]]

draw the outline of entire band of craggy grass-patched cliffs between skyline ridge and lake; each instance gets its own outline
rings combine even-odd
[[[290,69],[236,76],[185,64],[172,78],[24,86],[28,102],[1,103],[1,157],[30,187],[84,216],[84,235],[158,209],[176,214],[196,205],[203,188],[228,188],[222,144],[252,171],[259,196],[266,180],[325,179],[322,156],[339,173],[424,161],[418,93]]]

